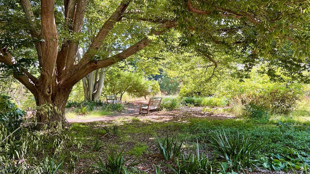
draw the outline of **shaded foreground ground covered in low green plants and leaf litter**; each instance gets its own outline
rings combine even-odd
[[[38,170],[41,167],[45,171],[69,173],[111,173],[112,169],[120,173],[232,173],[256,171],[257,167],[272,171],[309,171],[307,121],[277,115],[279,119],[262,123],[249,117],[211,119],[200,111],[196,111],[199,117],[194,116],[193,111],[182,113],[179,118],[172,117],[168,121],[158,122],[141,116],[104,124],[73,123],[70,128],[55,130],[60,134],[30,132],[34,137],[40,135],[37,138],[43,141],[34,141],[27,148],[34,148],[36,156],[56,152],[47,158],[39,155],[38,160],[33,161]],[[25,129],[10,141],[4,141],[2,160],[19,159],[18,155],[27,152],[17,148],[21,140],[18,137],[27,138],[24,131],[28,132]],[[10,170],[2,166],[2,171],[14,172],[24,167],[10,165]]]

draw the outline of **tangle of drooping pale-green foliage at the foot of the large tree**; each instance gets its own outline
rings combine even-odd
[[[38,113],[43,111],[49,116],[59,110],[47,104],[37,107]],[[38,124],[41,126],[36,130]],[[43,124],[24,119],[18,125],[13,129],[8,122],[0,122],[0,174],[54,174],[62,173],[64,167],[69,173],[75,171],[81,144],[63,132],[61,122]],[[50,154],[54,154],[52,158]]]

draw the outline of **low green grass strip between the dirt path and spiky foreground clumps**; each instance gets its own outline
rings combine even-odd
[[[223,109],[219,112],[225,111]],[[67,117],[68,115],[70,117],[70,114],[72,113],[68,112]],[[79,117],[101,117],[106,114],[108,112],[90,111],[89,115]],[[258,154],[271,157],[273,154],[284,154],[291,149],[299,153],[309,152],[309,120],[310,102],[303,100],[291,115],[272,115],[270,120],[264,123],[242,117],[221,120],[209,119],[208,117],[180,117],[178,121],[162,122],[130,117],[127,120],[117,120],[121,133],[116,137],[104,137],[105,131],[103,130],[104,126],[113,127],[116,124],[115,122],[73,123],[67,131],[73,140],[82,142],[81,158],[85,160],[96,158],[95,153],[97,152],[91,150],[91,147],[97,133],[101,140],[100,146],[102,146],[98,153],[105,154],[113,149],[119,151],[125,148],[126,156],[140,156],[139,158],[142,160],[154,155],[152,149],[157,142],[156,135],[159,137],[165,137],[166,133],[171,136],[174,135],[175,141],[184,142],[182,151],[195,150],[195,144],[198,140],[199,148],[210,153],[214,150],[210,144],[212,131],[223,130],[232,137],[237,137],[239,132],[242,135],[250,136],[257,143],[265,141]],[[158,153],[159,151],[155,152],[155,154]]]

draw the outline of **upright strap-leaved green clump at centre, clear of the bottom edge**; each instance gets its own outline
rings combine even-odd
[[[159,139],[157,136],[157,144],[156,147],[160,151],[160,154],[164,157],[166,161],[172,158],[178,158],[181,150],[181,146],[183,142],[179,145],[174,141],[174,137],[168,137],[168,135],[164,139]]]

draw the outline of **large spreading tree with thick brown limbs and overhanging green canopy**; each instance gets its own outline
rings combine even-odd
[[[304,71],[307,67],[300,63],[309,55],[309,5],[308,0],[2,0],[0,62],[2,70],[11,71],[31,91],[38,106],[47,102],[61,111],[73,85],[87,74],[128,58],[152,41],[173,47],[168,42],[175,33],[161,36],[171,28],[181,34],[178,43],[193,46],[201,55],[209,56],[209,48],[243,51],[252,62],[291,55],[300,65],[293,69]],[[84,20],[85,11],[97,20]],[[98,24],[92,40],[85,42],[85,26]],[[77,60],[81,43],[87,50]],[[107,54],[104,48],[115,51]],[[284,48],[287,54],[279,51]],[[38,121],[46,119],[38,115]],[[50,120],[65,123],[63,114]]]

